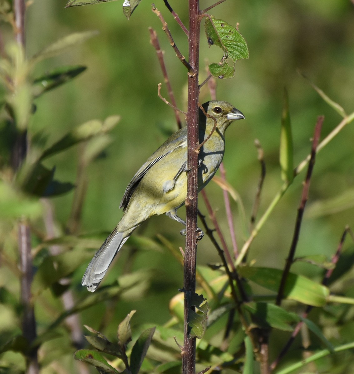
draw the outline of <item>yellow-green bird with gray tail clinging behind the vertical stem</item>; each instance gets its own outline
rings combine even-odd
[[[210,117],[199,110],[199,143],[212,132],[214,119],[217,127],[198,155],[199,191],[208,184],[223,160],[227,127],[234,120],[245,118],[226,101],[208,101],[203,108]],[[128,184],[119,206],[123,208],[123,217],[94,255],[82,278],[82,285],[88,291],[95,291],[119,249],[147,218],[166,213],[185,224],[176,211],[187,197],[187,173],[187,128],[182,128],[148,158]]]

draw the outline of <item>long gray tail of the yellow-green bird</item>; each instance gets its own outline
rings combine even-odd
[[[130,236],[130,233],[120,233],[117,228],[114,229],[101,248],[94,255],[90,264],[86,269],[84,276],[82,277],[81,284],[87,286],[88,291],[94,292],[97,286],[105,276],[109,265],[114,259],[119,249]]]

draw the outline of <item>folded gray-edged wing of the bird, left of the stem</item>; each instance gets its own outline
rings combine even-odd
[[[167,146],[168,145],[168,146]],[[131,194],[134,192],[137,185],[140,183],[144,175],[148,170],[160,161],[163,157],[167,156],[171,152],[175,151],[177,148],[187,147],[187,131],[185,128],[175,132],[170,138],[168,138],[164,144],[161,145],[145,162],[145,164],[136,172],[133,179],[128,184],[127,189],[124,192],[122,201],[119,208],[127,208]],[[167,150],[168,148],[172,148]]]

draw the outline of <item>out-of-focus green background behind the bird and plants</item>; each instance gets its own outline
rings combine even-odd
[[[213,1],[200,1],[206,8]],[[31,117],[30,134],[45,131],[48,144],[90,119],[105,119],[119,114],[121,120],[111,132],[112,141],[100,157],[88,167],[87,194],[82,211],[79,233],[105,239],[121,218],[119,203],[131,177],[148,156],[175,132],[176,122],[170,107],[157,96],[157,85],[163,82],[154,48],[149,42],[148,27],[154,28],[169,72],[178,107],[186,110],[187,74],[167,41],[161,23],[151,12],[149,1],[142,1],[128,21],[122,13],[122,2],[112,1],[94,6],[64,9],[65,0],[34,0],[27,10],[27,55],[31,56],[49,43],[76,31],[98,30],[99,34],[63,55],[37,65],[33,76],[62,65],[81,64],[87,71],[72,82],[36,100],[37,110]],[[166,19],[176,45],[187,56],[187,39],[166,9],[163,1],[155,2]],[[186,2],[171,0],[171,6],[187,24]],[[297,165],[311,149],[311,137],[317,116],[325,116],[321,138],[341,122],[341,117],[320,98],[305,74],[347,113],[354,110],[354,4],[349,0],[229,0],[211,10],[215,18],[231,25],[239,23],[239,31],[246,39],[249,59],[236,63],[233,79],[218,80],[217,98],[231,102],[245,114],[227,130],[224,166],[227,180],[238,192],[249,219],[260,176],[260,164],[254,140],[264,149],[267,174],[261,196],[258,217],[263,214],[282,185],[279,168],[279,136],[284,88],[290,102],[294,138],[294,163]],[[3,25],[3,38],[10,39],[11,30]],[[200,48],[200,82],[206,74],[208,62],[218,62],[221,50],[209,48],[203,31]],[[167,98],[163,86],[162,95]],[[203,87],[200,101],[210,99]],[[184,121],[184,119],[182,118]],[[297,255],[325,254],[331,256],[338,245],[345,225],[354,227],[354,128],[348,125],[319,154],[312,176],[311,189],[300,233]],[[75,183],[80,147],[60,153],[45,161],[49,168],[56,166],[56,177]],[[300,202],[305,171],[294,180],[271,217],[252,243],[248,260],[258,266],[282,268],[291,243]],[[211,182],[207,187],[209,199],[218,221],[231,243],[223,202],[223,192]],[[337,200],[336,200],[337,199]],[[55,225],[65,227],[70,215],[73,192],[52,199]],[[237,243],[246,239],[232,200]],[[200,199],[200,210],[207,214]],[[184,216],[184,209],[180,209]],[[184,246],[181,227],[165,216],[153,217],[133,236],[157,240],[166,237],[177,249]],[[85,263],[74,274],[75,293],[87,292],[80,285],[92,249],[87,251]],[[197,263],[219,262],[215,248],[205,237],[198,245]],[[81,314],[82,324],[99,328],[103,324],[103,308],[111,308],[105,333],[115,335],[117,324],[132,309],[136,309],[133,323],[163,324],[169,318],[168,303],[182,287],[182,267],[165,246],[139,248],[128,241],[118,261],[103,281],[113,282],[117,276],[138,269],[153,269],[154,276],[140,294],[123,298],[118,304],[98,303]],[[318,277],[321,270],[297,264],[294,272]],[[13,275],[12,275],[13,276]],[[1,276],[0,276],[1,279]],[[1,279],[4,282],[4,279]],[[16,279],[9,279],[15,289]],[[37,306],[39,330],[48,324],[46,307],[56,307],[49,297],[48,305]],[[15,322],[13,322],[15,325]]]

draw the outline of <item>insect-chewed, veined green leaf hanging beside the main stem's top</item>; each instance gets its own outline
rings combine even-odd
[[[224,52],[224,57],[219,64],[209,65],[211,74],[219,78],[233,77],[236,61],[249,57],[245,39],[235,27],[213,16],[209,16],[205,21],[205,34],[209,46],[216,45]],[[228,58],[231,59],[232,64],[227,62]]]

